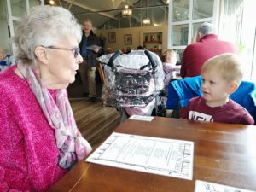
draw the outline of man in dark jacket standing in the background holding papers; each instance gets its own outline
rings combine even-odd
[[[92,31],[91,20],[84,20],[82,41],[79,44],[80,54],[84,62],[79,65],[79,73],[83,82],[84,95],[88,92],[91,102],[96,101],[96,60],[101,50],[100,39]],[[92,46],[93,45],[93,46]],[[99,47],[97,47],[99,46]]]

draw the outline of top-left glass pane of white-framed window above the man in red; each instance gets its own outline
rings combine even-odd
[[[172,22],[189,20],[189,0],[172,1]]]

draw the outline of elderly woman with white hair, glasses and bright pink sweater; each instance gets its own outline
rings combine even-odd
[[[66,90],[83,61],[81,35],[60,7],[34,7],[20,22],[18,64],[0,73],[0,191],[46,191],[90,153]]]

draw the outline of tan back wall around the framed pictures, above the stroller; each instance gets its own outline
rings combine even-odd
[[[131,49],[137,49],[138,45],[143,45],[143,32],[163,32],[163,45],[162,49],[167,48],[167,26],[143,26],[143,27],[132,27],[132,28],[119,28],[119,29],[108,29],[108,30],[97,30],[96,34],[104,36],[106,40],[105,48],[111,48],[113,51],[118,49],[123,49],[127,47],[131,47]],[[108,33],[115,32],[116,34],[116,42],[109,43],[108,42]],[[125,44],[125,35],[132,35],[132,44]]]

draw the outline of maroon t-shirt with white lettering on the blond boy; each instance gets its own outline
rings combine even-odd
[[[183,119],[244,125],[254,124],[254,119],[247,112],[247,109],[233,100],[230,99],[223,106],[212,108],[207,106],[203,96],[197,96],[189,101]]]

